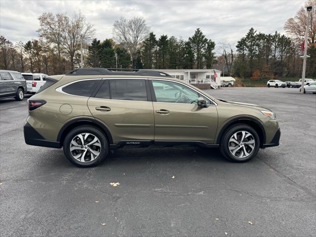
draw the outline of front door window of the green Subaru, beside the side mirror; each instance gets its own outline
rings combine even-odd
[[[152,83],[157,102],[197,105],[199,94],[185,85],[164,80],[153,80]],[[206,99],[206,103],[209,105],[210,101]]]

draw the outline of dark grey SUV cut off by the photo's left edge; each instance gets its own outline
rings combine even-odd
[[[23,100],[26,92],[26,80],[21,73],[0,70],[0,99],[14,97],[15,100]]]

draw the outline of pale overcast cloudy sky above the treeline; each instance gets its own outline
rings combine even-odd
[[[81,11],[94,24],[96,38],[112,38],[112,26],[120,16],[143,16],[159,35],[187,40],[200,28],[216,43],[237,42],[248,29],[283,32],[284,22],[295,15],[304,0],[0,0],[0,34],[11,41],[37,38],[42,12]]]

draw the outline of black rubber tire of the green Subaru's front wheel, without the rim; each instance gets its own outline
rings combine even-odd
[[[255,146],[254,146],[253,151],[249,154],[249,156],[244,157],[244,158],[235,157],[229,150],[229,143],[230,143],[229,140],[234,135],[234,133],[236,133],[238,131],[250,132],[255,140]],[[226,131],[224,132],[223,137],[221,139],[219,149],[220,149],[221,154],[229,161],[245,162],[245,161],[248,161],[248,160],[254,158],[257,155],[257,153],[259,151],[259,146],[260,146],[260,139],[259,139],[259,136],[258,136],[258,133],[256,132],[256,130],[247,124],[238,123],[238,124],[234,124],[226,129]]]

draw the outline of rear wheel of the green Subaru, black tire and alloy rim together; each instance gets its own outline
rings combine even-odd
[[[63,146],[66,158],[80,167],[98,165],[109,153],[106,136],[92,126],[79,126],[71,130]]]

